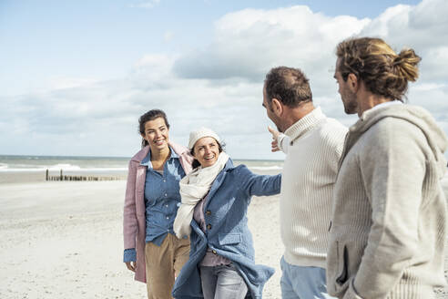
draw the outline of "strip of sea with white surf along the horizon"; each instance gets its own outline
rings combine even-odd
[[[104,175],[126,178],[130,157],[66,157],[66,156],[19,156],[0,155],[0,176],[22,178],[40,177],[49,171],[50,175]],[[235,165],[245,164],[255,173],[279,173],[283,160],[233,160]],[[3,180],[10,181],[10,180]],[[0,178],[0,182],[2,182]]]

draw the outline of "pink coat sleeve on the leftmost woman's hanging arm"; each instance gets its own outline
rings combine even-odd
[[[129,161],[127,172],[127,185],[125,195],[125,207],[123,209],[123,241],[125,250],[136,248],[137,214],[136,214],[136,177],[137,169],[132,161]]]

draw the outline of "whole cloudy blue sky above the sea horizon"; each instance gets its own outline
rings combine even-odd
[[[382,37],[423,58],[408,103],[448,132],[448,1],[0,0],[0,154],[131,157],[138,117],[165,110],[170,139],[214,129],[234,159],[270,152],[262,87],[299,67],[313,101],[350,126],[335,47]]]

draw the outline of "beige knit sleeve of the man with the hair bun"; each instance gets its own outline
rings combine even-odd
[[[372,226],[344,298],[385,298],[418,254],[426,140],[402,119],[384,119],[375,127],[359,157]]]

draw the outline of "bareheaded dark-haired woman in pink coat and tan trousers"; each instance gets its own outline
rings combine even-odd
[[[123,233],[124,262],[147,283],[148,298],[171,298],[175,275],[188,260],[189,240],[178,239],[173,222],[180,204],[178,182],[193,158],[188,149],[169,140],[162,110],[142,115],[142,149],[129,161]]]

